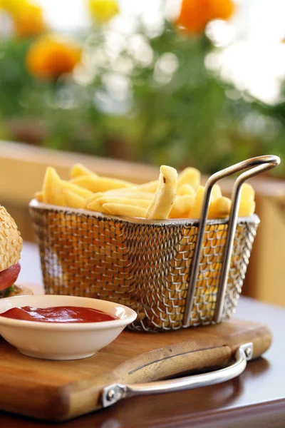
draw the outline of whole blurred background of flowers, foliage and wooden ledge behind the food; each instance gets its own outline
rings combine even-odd
[[[46,163],[140,182],[284,158],[284,16],[284,0],[0,0],[0,197],[24,238]],[[284,178],[283,162],[257,180],[244,292],[285,305]]]

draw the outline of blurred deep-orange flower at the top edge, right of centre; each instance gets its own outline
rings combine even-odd
[[[209,21],[229,19],[233,12],[232,0],[182,0],[176,24],[189,33],[202,33]]]

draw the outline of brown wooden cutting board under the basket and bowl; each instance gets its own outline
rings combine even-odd
[[[109,384],[224,367],[247,342],[253,342],[258,357],[269,348],[271,333],[242,320],[160,334],[123,332],[93,357],[74,361],[25,357],[0,337],[0,410],[50,421],[71,419],[99,409],[100,393]]]

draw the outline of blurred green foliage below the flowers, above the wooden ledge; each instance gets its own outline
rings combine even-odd
[[[24,121],[31,133],[39,127],[43,146],[204,173],[284,156],[285,103],[263,105],[207,71],[214,48],[205,36],[182,36],[165,21],[159,36],[142,28],[131,37],[115,50],[108,31],[81,35],[83,65],[53,82],[26,70],[32,41],[1,41],[0,137],[28,142],[17,129]]]

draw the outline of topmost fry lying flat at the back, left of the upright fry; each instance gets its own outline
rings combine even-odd
[[[72,178],[70,183],[79,185],[93,193],[105,192],[106,190],[110,189],[133,187],[133,183],[128,183],[128,181],[93,175],[81,175],[79,177]]]

